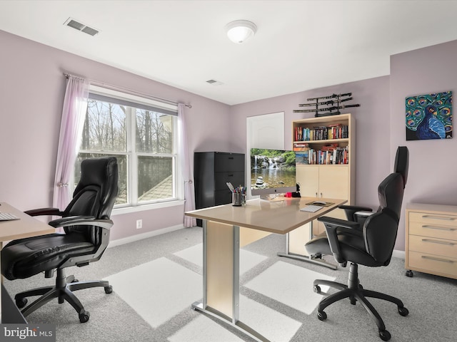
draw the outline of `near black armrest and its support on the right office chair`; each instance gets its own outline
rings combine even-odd
[[[358,222],[346,221],[344,219],[336,219],[334,217],[318,217],[319,222],[323,222],[326,227],[328,244],[330,244],[331,252],[335,260],[346,266],[346,260],[341,256],[340,244],[338,241],[338,232],[348,232],[349,234],[361,234],[360,224]],[[337,232],[338,229],[338,232]]]

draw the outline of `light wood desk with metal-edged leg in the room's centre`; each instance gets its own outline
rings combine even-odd
[[[317,212],[301,212],[313,200],[332,202]],[[195,310],[220,318],[256,341],[268,339],[239,321],[239,249],[268,233],[287,234],[330,212],[343,199],[314,197],[285,198],[281,202],[252,199],[242,207],[225,204],[186,212],[203,219],[203,301],[192,304]],[[306,241],[305,241],[306,242]],[[304,249],[304,242],[303,242]]]

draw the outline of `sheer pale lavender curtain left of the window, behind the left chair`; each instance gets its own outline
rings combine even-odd
[[[53,207],[60,210],[64,210],[71,199],[68,185],[81,143],[88,96],[88,81],[76,76],[67,76],[53,198]]]

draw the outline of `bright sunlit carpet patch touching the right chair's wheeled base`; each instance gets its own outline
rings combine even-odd
[[[244,286],[309,315],[322,299],[322,294],[313,291],[314,279],[335,280],[332,276],[278,261]],[[321,286],[321,291],[328,291],[328,286]]]

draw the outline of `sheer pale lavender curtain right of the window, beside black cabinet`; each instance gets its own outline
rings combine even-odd
[[[189,144],[186,133],[186,105],[178,104],[178,153],[181,162],[181,170],[184,180],[184,211],[189,212],[195,209],[194,197],[194,172],[191,170]],[[196,219],[184,215],[184,227],[196,226]]]

